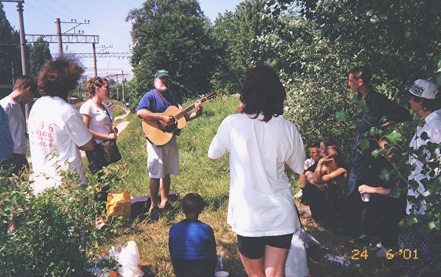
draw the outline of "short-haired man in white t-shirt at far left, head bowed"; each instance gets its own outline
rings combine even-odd
[[[15,81],[12,92],[0,100],[0,105],[8,114],[9,129],[14,141],[14,150],[10,158],[13,166],[12,173],[18,175],[22,170],[29,170],[26,152],[28,143],[26,142],[26,122],[21,105],[31,103],[37,94],[37,81],[31,76],[20,76]]]

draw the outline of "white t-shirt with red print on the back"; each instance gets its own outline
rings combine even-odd
[[[77,145],[88,143],[92,134],[76,107],[57,96],[43,96],[32,106],[28,128],[35,194],[60,185],[57,166],[61,166],[61,170],[73,168],[80,174],[80,183],[86,183]],[[46,158],[53,151],[57,156]]]

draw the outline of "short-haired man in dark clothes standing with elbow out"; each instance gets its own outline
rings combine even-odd
[[[377,147],[371,145],[367,150],[361,150],[361,141],[367,139],[365,133],[371,126],[384,129],[396,123],[411,120],[411,115],[406,109],[373,90],[370,83],[371,77],[372,74],[368,68],[356,67],[349,71],[347,84],[352,92],[357,93],[358,100],[365,101],[367,107],[367,109],[360,107],[358,110],[356,136],[351,145],[351,173],[342,207],[343,227],[341,231],[351,236],[358,236],[362,222],[362,201],[358,192],[358,186],[363,183],[362,169],[367,166],[371,151]],[[383,116],[386,118],[385,122],[381,121]],[[361,234],[358,239],[360,242],[367,242],[369,237],[369,234]]]

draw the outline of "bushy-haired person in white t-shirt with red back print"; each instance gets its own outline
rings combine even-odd
[[[39,73],[38,84],[43,97],[34,103],[29,114],[34,169],[31,177],[35,194],[48,187],[58,187],[59,171],[70,168],[79,174],[80,184],[86,184],[79,150],[92,150],[94,141],[79,111],[67,102],[83,72],[83,68],[71,59],[57,59],[46,62]]]

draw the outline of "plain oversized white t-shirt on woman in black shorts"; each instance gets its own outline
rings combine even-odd
[[[227,223],[240,236],[280,236],[300,227],[285,164],[303,172],[302,138],[283,116],[262,118],[227,116],[208,150],[214,159],[229,152]]]

